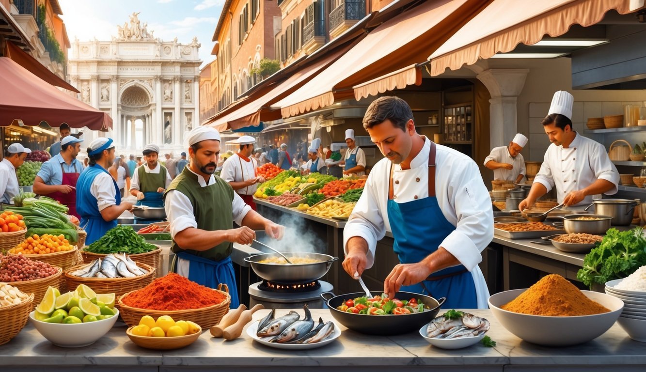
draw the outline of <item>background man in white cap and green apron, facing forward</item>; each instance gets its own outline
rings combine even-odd
[[[158,161],[159,153],[160,148],[154,143],[143,148],[146,162],[134,170],[130,181],[130,194],[137,197],[136,205],[163,207],[161,196],[172,180],[166,167]]]

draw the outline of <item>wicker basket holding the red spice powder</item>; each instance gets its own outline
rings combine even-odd
[[[220,322],[222,316],[229,311],[229,304],[231,304],[231,296],[229,296],[229,287],[224,284],[224,291],[221,290],[223,284],[218,285],[217,291],[227,295],[227,298],[220,302],[220,304],[212,305],[209,307],[202,307],[202,309],[191,310],[176,310],[176,311],[160,311],[160,310],[147,310],[138,309],[137,307],[130,307],[123,304],[123,298],[127,297],[131,292],[124,294],[118,300],[119,311],[121,318],[129,327],[139,324],[139,320],[144,315],[150,315],[153,318],[158,318],[162,315],[169,315],[173,319],[191,320],[202,327],[202,329],[209,329]],[[216,291],[216,289],[214,289]]]

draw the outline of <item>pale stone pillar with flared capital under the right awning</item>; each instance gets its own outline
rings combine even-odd
[[[490,148],[507,145],[517,133],[517,98],[528,72],[526,68],[490,68],[477,74],[491,94]]]

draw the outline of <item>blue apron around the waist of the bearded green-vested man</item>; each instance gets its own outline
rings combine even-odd
[[[231,295],[231,305],[229,307],[235,309],[240,306],[238,286],[236,285],[236,276],[233,271],[231,257],[227,257],[222,261],[213,261],[187,252],[177,253],[177,256],[190,262],[189,280],[209,288],[217,288],[220,283],[228,285],[229,294]]]

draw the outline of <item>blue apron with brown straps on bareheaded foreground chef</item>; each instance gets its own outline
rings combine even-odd
[[[347,161],[346,161],[347,164]],[[393,200],[392,165],[389,180],[388,220],[395,238],[393,250],[401,263],[417,263],[439,246],[455,230],[437,203],[435,196],[435,143],[428,157],[428,198],[397,203]],[[433,298],[446,297],[445,309],[476,309],[477,297],[473,276],[463,265],[447,267],[426,280],[404,285],[401,291],[422,293]],[[408,298],[406,298],[408,300]]]

